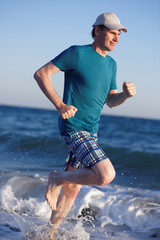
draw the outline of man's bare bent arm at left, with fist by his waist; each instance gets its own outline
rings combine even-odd
[[[53,87],[51,76],[59,71],[59,68],[57,68],[52,62],[49,62],[35,72],[34,78],[37,81],[42,92],[56,107],[59,115],[63,119],[68,119],[75,115],[77,108],[72,105],[64,104]]]

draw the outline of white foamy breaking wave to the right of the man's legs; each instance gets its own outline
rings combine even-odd
[[[79,211],[82,208],[96,209],[96,218],[101,222],[102,227],[107,224],[125,224],[137,232],[160,229],[160,193],[158,192],[115,186],[108,187],[108,191],[104,194],[98,189],[88,188],[83,200],[81,198]]]

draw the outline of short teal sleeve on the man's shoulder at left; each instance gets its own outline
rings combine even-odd
[[[78,50],[76,46],[71,46],[57,57],[51,60],[51,62],[58,67],[61,71],[67,72],[76,69],[78,61]]]

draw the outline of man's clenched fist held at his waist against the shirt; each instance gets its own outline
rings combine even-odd
[[[62,104],[58,110],[59,115],[63,119],[74,117],[78,109],[72,105]]]

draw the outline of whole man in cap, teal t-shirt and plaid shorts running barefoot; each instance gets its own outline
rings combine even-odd
[[[56,227],[65,218],[82,185],[109,184],[114,167],[97,143],[97,130],[104,104],[116,107],[136,93],[133,83],[116,86],[116,62],[108,56],[127,32],[113,13],[98,16],[93,25],[91,45],[72,46],[40,68],[34,75],[41,90],[56,107],[59,130],[70,148],[64,172],[51,172],[46,200]],[[63,101],[51,82],[51,75],[65,72]],[[75,171],[74,171],[75,170]],[[60,194],[60,189],[63,189]]]

